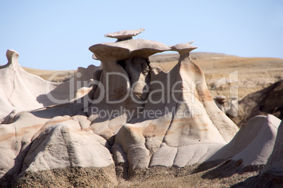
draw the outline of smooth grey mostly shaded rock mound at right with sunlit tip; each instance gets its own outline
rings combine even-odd
[[[273,115],[260,115],[241,127],[235,137],[211,156],[208,161],[219,158],[242,161],[242,165],[264,165],[272,153],[277,129],[281,120]]]

